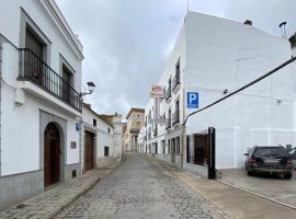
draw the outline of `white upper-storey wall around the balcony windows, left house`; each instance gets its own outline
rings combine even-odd
[[[21,21],[21,8],[25,10],[29,16],[36,23],[42,30],[44,35],[52,42],[50,44],[50,59],[47,60],[48,65],[57,72],[59,72],[59,54],[61,54],[66,60],[76,70],[73,87],[76,90],[81,89],[81,59],[77,55],[72,45],[69,43],[69,37],[66,37],[65,32],[61,32],[61,27],[53,21],[49,15],[48,9],[44,7],[44,0],[14,0],[14,1],[0,1],[0,33],[11,41],[18,47],[20,45],[20,21]],[[9,25],[8,25],[9,24]]]

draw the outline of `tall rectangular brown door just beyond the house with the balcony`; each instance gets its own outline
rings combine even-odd
[[[84,171],[93,169],[93,137],[94,135],[86,131],[84,138]]]

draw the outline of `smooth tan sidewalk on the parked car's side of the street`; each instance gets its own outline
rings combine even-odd
[[[206,199],[228,214],[231,219],[282,219],[295,218],[296,210],[252,195],[239,188],[210,181],[194,173],[159,161],[167,171],[202,194]]]

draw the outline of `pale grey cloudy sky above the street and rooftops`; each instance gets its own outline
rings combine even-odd
[[[186,13],[186,0],[56,0],[84,47],[83,83],[99,113],[145,107],[162,73]],[[190,0],[190,10],[243,22],[281,36],[296,32],[295,0]]]

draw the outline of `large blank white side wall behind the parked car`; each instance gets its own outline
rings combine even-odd
[[[189,13],[185,25],[185,87],[200,93],[200,107],[223,97],[225,89],[232,92],[291,58],[286,39],[253,26],[197,13]],[[218,169],[242,166],[243,152],[253,145],[295,146],[295,71],[287,67],[192,116],[187,134],[209,126],[217,129]]]

